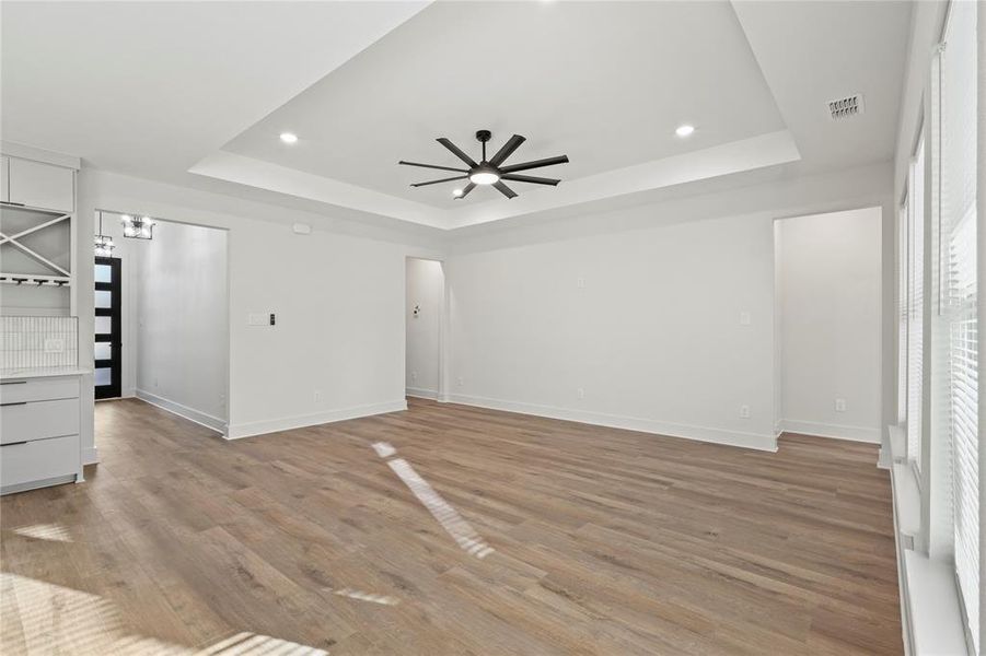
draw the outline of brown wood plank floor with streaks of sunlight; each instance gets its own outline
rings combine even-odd
[[[903,653],[872,445],[420,400],[236,442],[123,400],[96,431],[86,483],[0,503],[4,655]]]

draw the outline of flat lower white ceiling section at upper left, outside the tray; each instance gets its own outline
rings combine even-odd
[[[0,2],[0,131],[141,177],[205,155],[426,1]]]

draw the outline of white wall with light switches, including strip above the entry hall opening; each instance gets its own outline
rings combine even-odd
[[[254,202],[236,190],[224,196],[83,168],[80,234],[92,232],[96,208],[139,209],[229,231],[232,437],[406,407],[405,258],[440,259],[443,235],[343,210],[325,216]],[[309,223],[313,233],[293,234],[294,222]],[[77,256],[91,262],[92,243],[80,242]],[[81,266],[79,288],[92,284],[92,267]],[[79,330],[88,335],[91,293],[82,298]],[[247,325],[248,314],[269,312],[278,315],[276,327]],[[80,362],[92,362],[85,340]],[[88,399],[82,399],[90,413],[83,418],[86,461],[98,458],[91,385],[88,376]]]

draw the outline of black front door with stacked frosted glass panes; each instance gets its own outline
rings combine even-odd
[[[96,258],[96,371],[95,397],[112,399],[120,395],[120,260]]]

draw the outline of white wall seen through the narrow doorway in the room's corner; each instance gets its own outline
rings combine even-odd
[[[442,263],[407,259],[405,321],[407,353],[405,387],[410,396],[429,399],[439,394],[439,358],[444,298]],[[419,308],[417,316],[415,306]]]

